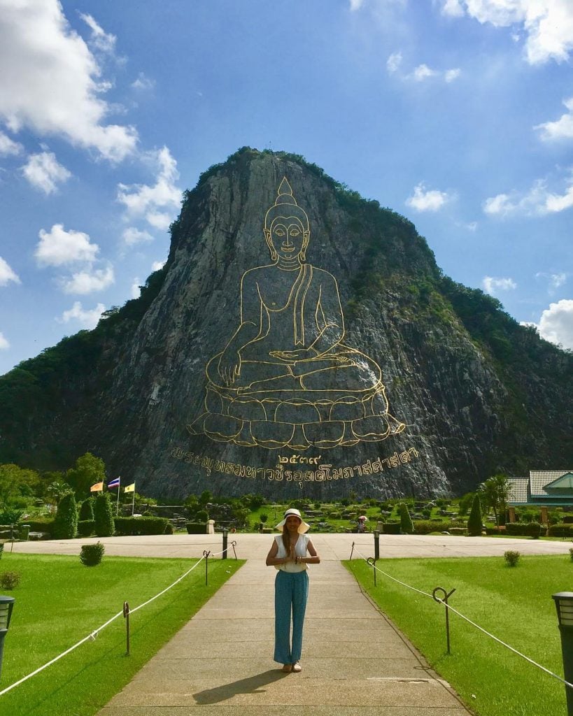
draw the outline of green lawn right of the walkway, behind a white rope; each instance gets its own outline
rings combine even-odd
[[[564,685],[451,614],[446,653],[444,607],[377,573],[364,560],[346,561],[352,574],[396,626],[479,716],[567,713]],[[450,604],[483,629],[552,672],[563,675],[557,614],[551,595],[571,589],[567,556],[382,559],[377,566],[423,591],[456,592]]]

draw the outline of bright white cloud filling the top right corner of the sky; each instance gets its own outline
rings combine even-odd
[[[467,13],[481,24],[511,27],[512,35],[519,25],[529,64],[565,62],[573,49],[571,0],[446,0],[442,12],[456,17]]]

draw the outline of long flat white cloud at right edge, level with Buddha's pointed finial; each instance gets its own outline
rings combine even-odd
[[[543,179],[537,180],[525,193],[512,192],[490,197],[483,203],[483,211],[490,216],[546,216],[559,213],[573,206],[573,178],[569,179],[563,194],[555,194],[547,189]]]

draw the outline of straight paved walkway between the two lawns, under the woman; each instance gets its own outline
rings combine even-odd
[[[309,572],[302,673],[283,674],[272,661],[268,544],[98,716],[469,714],[329,550]]]

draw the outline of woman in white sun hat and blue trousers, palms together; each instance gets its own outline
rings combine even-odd
[[[318,564],[320,561],[314,545],[304,534],[309,527],[302,521],[298,510],[287,510],[283,521],[276,526],[282,535],[274,538],[266,556],[267,566],[278,570],[274,582],[274,660],[283,664],[282,670],[287,673],[302,671],[299,659],[309,593],[307,564]]]

